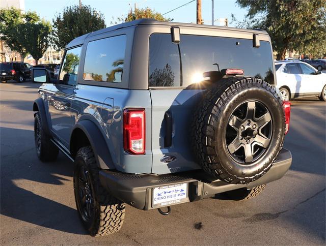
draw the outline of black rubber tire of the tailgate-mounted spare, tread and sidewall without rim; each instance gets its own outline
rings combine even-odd
[[[224,143],[223,132],[228,126],[228,117],[235,109],[234,105],[251,98],[268,103],[265,106],[273,119],[273,136],[266,153],[246,166],[232,160]],[[222,79],[204,91],[193,117],[191,131],[193,153],[204,171],[230,183],[252,182],[270,169],[282,149],[285,132],[282,98],[275,87],[260,79]]]

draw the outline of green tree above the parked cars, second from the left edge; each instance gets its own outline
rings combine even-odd
[[[40,20],[38,22],[26,22],[18,24],[18,39],[23,42],[23,46],[35,59],[36,65],[38,60],[43,56],[49,46],[51,24],[49,21]]]

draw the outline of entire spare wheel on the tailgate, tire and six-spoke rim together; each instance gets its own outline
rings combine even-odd
[[[283,146],[282,98],[267,82],[229,77],[203,93],[192,122],[193,150],[209,174],[230,183],[263,176]]]

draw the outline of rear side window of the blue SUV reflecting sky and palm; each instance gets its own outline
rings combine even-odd
[[[89,42],[85,55],[83,79],[120,83],[126,39],[126,35],[121,35]]]

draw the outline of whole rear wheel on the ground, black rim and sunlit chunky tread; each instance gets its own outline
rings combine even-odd
[[[108,235],[121,229],[125,203],[101,186],[91,146],[77,152],[73,185],[79,218],[91,236]]]

